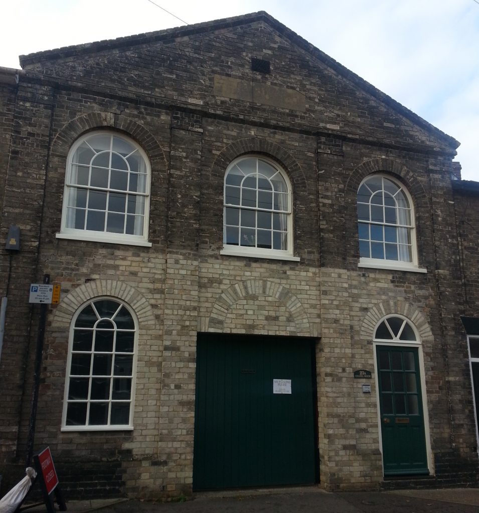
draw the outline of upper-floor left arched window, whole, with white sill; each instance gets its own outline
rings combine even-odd
[[[146,154],[132,140],[106,131],[84,135],[68,155],[57,236],[150,245],[149,176]]]

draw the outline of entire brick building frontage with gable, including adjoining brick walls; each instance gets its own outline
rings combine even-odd
[[[69,499],[478,485],[457,141],[265,12],[21,64],[0,74],[2,495],[32,443]]]

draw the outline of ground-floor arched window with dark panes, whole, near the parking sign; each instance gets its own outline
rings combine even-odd
[[[63,430],[131,429],[137,326],[121,301],[94,299],[70,330]]]

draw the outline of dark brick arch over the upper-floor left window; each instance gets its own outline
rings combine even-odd
[[[112,112],[82,114],[66,123],[53,139],[51,154],[65,159],[71,145],[80,135],[101,128],[116,129],[132,137],[146,151],[152,167],[160,166],[166,170],[166,157],[155,136],[135,120]]]

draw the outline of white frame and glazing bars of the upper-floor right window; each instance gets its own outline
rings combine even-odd
[[[408,189],[405,187],[404,184],[394,179],[394,177],[386,174],[386,173],[374,173],[366,176],[364,180],[360,183],[358,187],[359,189],[362,187],[363,184],[365,184],[368,180],[370,180],[373,177],[380,178],[381,180],[389,180],[393,184],[395,184],[397,187],[401,189],[401,191],[404,192],[406,199],[409,203],[409,209],[410,209],[410,216],[411,216],[411,225],[407,226],[404,225],[404,227],[408,228],[410,230],[410,237],[411,237],[411,254],[412,254],[412,260],[411,262],[407,261],[400,261],[400,260],[389,260],[386,258],[384,259],[377,259],[377,258],[367,258],[367,257],[359,257],[359,263],[358,267],[365,267],[365,268],[371,268],[371,269],[389,269],[389,270],[396,270],[396,271],[410,271],[410,272],[421,272],[425,273],[427,272],[427,269],[421,268],[418,265],[418,258],[417,258],[417,244],[416,244],[416,225],[415,225],[415,212],[414,212],[414,203],[412,201],[411,194],[409,193]],[[384,208],[384,205],[383,205]],[[397,209],[397,207],[396,207]],[[357,208],[356,203],[356,221],[357,224],[359,223],[365,223],[369,226],[371,225],[377,225],[377,226],[391,226],[391,227],[400,227],[401,225],[399,223],[395,224],[388,224],[386,222],[382,223],[373,223],[371,221],[363,221],[359,220],[359,212]],[[358,242],[359,242],[359,227],[357,228],[356,233],[358,234]],[[371,239],[369,239],[371,242]]]

